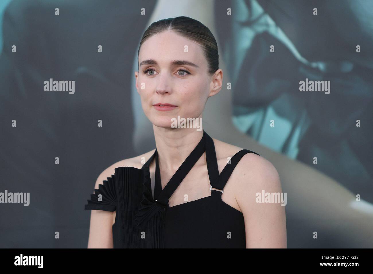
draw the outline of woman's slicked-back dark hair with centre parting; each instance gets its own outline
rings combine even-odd
[[[177,16],[174,18],[162,19],[152,23],[142,35],[140,47],[137,52],[137,60],[141,45],[154,34],[163,31],[175,31],[176,33],[200,44],[207,60],[208,73],[213,75],[219,69],[219,53],[214,35],[207,26],[198,20],[187,16]]]

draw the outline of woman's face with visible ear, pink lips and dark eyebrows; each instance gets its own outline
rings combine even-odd
[[[158,127],[171,127],[171,119],[178,116],[202,117],[207,98],[221,89],[222,72],[219,69],[214,76],[208,75],[202,47],[173,31],[145,41],[138,62],[135,77],[142,109]]]

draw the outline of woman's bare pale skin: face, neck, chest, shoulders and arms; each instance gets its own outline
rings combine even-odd
[[[184,54],[184,45],[189,53]],[[144,60],[155,60],[157,64]],[[173,60],[186,60],[196,66],[172,64]],[[217,70],[212,76],[207,74],[208,64],[199,44],[175,32],[166,31],[145,41],[139,54],[140,71],[135,72],[136,88],[141,97],[145,115],[153,123],[154,138],[159,153],[162,188],[167,184],[182,162],[202,138],[196,129],[171,128],[171,118],[202,117],[207,99],[222,88],[223,71]],[[144,70],[148,70],[144,73]],[[185,73],[186,70],[189,73]],[[145,89],[141,89],[145,83]],[[170,111],[159,111],[155,103],[169,103],[177,107]],[[229,157],[241,147],[227,144],[213,138],[219,173]],[[97,179],[98,184],[114,174],[120,166],[140,169],[151,157],[154,150],[134,158],[113,164]],[[144,157],[144,158],[142,158]],[[150,166],[151,182],[154,183],[155,162]],[[154,185],[152,185],[154,189]],[[206,156],[197,161],[185,179],[169,199],[170,207],[210,196],[210,182],[207,173]],[[280,203],[256,203],[256,193],[282,192],[280,179],[275,167],[265,158],[248,153],[241,158],[229,178],[222,200],[244,215],[247,248],[286,248],[285,207]],[[188,195],[185,201],[184,195]],[[112,225],[116,212],[92,210],[88,248],[112,248]]]

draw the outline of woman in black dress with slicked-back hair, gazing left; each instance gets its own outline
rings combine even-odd
[[[222,88],[210,30],[185,16],[154,22],[138,63],[136,88],[156,149],[100,175],[85,206],[93,210],[88,248],[286,248],[285,208],[257,199],[282,192],[275,167],[203,127],[173,126],[178,116],[201,119]]]

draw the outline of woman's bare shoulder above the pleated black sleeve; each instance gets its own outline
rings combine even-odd
[[[135,167],[137,169],[141,169],[141,167],[145,164],[145,162],[153,155],[155,149],[148,151],[144,154],[120,160],[111,166],[107,167],[101,174],[98,176],[95,189],[98,189],[98,185],[102,184],[104,180],[107,180],[108,177],[111,177],[115,173],[115,169],[117,167]]]

